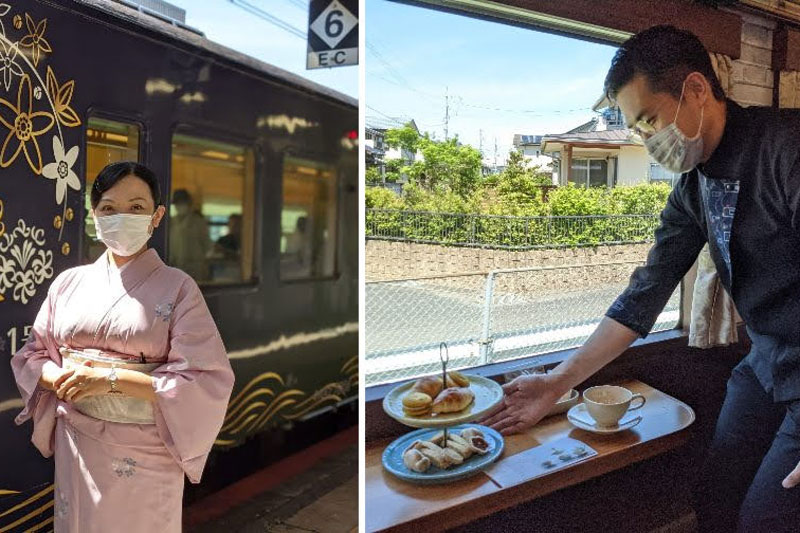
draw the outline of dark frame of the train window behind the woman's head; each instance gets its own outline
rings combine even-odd
[[[148,127],[147,121],[140,114],[126,113],[124,111],[114,111],[107,108],[89,106],[83,115],[83,123],[81,124],[81,149],[83,150],[82,157],[79,157],[79,169],[81,176],[81,226],[80,226],[80,239],[78,242],[78,259],[80,264],[88,265],[93,261],[84,262],[84,253],[86,252],[86,217],[89,216],[89,210],[86,207],[86,195],[89,194],[88,181],[86,179],[86,171],[88,170],[89,161],[89,120],[90,119],[108,120],[118,122],[129,126],[135,126],[139,130],[139,146],[136,154],[136,161],[139,164],[149,166],[150,158],[150,135],[151,131]]]

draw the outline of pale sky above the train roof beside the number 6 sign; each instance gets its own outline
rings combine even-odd
[[[358,67],[306,70],[306,41],[228,0],[168,0],[186,23],[212,41],[358,98]],[[308,0],[248,0],[295,28],[308,30]]]

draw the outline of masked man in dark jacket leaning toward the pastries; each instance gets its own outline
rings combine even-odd
[[[646,336],[708,242],[753,345],[728,381],[700,475],[700,529],[800,531],[800,112],[726,99],[697,37],[670,26],[624,43],[605,89],[680,182],[647,264],[586,344],[551,374],[506,384],[487,423],[504,433],[532,426]]]

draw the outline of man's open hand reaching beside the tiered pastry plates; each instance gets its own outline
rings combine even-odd
[[[553,376],[519,376],[503,385],[503,402],[480,423],[503,435],[520,433],[544,418],[562,396],[560,388]]]

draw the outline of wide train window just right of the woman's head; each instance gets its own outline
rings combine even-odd
[[[254,187],[252,149],[175,134],[169,263],[199,284],[252,280]]]

